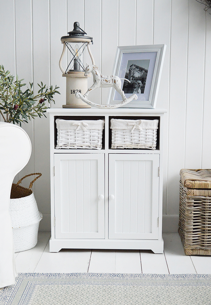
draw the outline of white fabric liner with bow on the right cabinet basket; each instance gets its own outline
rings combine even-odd
[[[158,129],[159,120],[111,119],[111,129]]]

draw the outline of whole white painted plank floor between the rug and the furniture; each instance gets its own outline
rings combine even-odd
[[[178,233],[164,233],[164,253],[150,250],[62,249],[49,252],[50,232],[39,232],[37,245],[16,253],[18,272],[211,274],[210,256],[187,256]]]

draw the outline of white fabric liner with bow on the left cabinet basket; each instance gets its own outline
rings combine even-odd
[[[104,120],[62,120],[56,119],[57,129],[74,130],[102,130],[104,129]]]

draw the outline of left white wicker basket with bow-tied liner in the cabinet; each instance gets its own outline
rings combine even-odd
[[[57,149],[102,149],[104,120],[56,119],[56,124]]]

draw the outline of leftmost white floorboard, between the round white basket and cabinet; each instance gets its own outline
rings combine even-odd
[[[50,232],[39,232],[36,246],[18,253],[16,257],[17,272],[34,272],[49,239]]]

